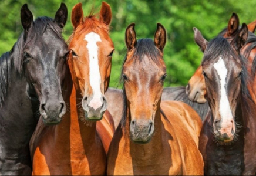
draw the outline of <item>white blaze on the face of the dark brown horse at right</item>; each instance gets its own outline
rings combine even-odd
[[[221,126],[226,127],[230,124],[230,121],[233,119],[230,103],[228,101],[227,92],[225,90],[226,77],[227,77],[227,67],[223,59],[220,57],[218,62],[214,63],[214,69],[217,71],[218,76],[220,77],[220,116],[222,119]]]

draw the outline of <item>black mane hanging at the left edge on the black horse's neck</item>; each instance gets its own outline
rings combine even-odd
[[[11,68],[10,52],[6,52],[0,57],[0,107],[3,106],[10,80],[9,67]]]

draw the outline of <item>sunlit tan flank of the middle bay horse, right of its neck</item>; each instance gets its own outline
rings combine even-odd
[[[183,174],[203,174],[203,158],[198,150],[200,117],[190,106],[179,101],[163,101],[161,110],[166,116],[162,119],[168,121],[166,126],[173,128],[171,136],[177,138],[178,146],[175,147],[179,147],[181,153]]]

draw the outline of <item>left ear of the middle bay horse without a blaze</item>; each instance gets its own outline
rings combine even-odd
[[[126,32],[125,32],[125,42],[126,42],[128,51],[133,49],[137,43],[134,26],[135,26],[135,23],[131,23],[129,26],[127,26]]]

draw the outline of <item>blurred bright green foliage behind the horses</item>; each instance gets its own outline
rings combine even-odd
[[[72,33],[70,13],[72,7],[78,3],[71,0],[2,0],[0,6],[0,53],[12,48],[22,32],[20,22],[20,9],[25,3],[31,9],[34,18],[38,16],[54,17],[60,2],[68,6],[69,20],[65,26],[63,36],[65,39]],[[95,11],[100,9],[101,1],[81,1],[85,15],[92,7]],[[112,73],[110,87],[119,83],[120,70],[123,62],[124,31],[130,23],[136,23],[137,38],[153,38],[156,23],[160,22],[167,30],[168,40],[164,49],[164,60],[167,65],[167,78],[165,86],[186,85],[191,75],[200,65],[203,54],[194,42],[193,27],[197,27],[206,39],[214,38],[227,26],[232,12],[240,17],[240,23],[250,23],[256,19],[256,1],[234,0],[109,0],[113,13],[112,32],[110,34],[115,52],[112,58]]]

